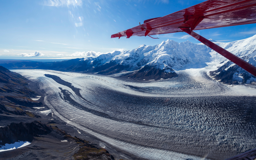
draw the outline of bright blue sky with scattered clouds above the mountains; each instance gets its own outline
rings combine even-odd
[[[97,56],[117,49],[157,45],[167,39],[199,43],[186,33],[110,38],[204,0],[8,0],[0,5],[0,59]],[[230,42],[256,34],[256,25],[196,31],[207,39]],[[93,51],[93,52],[90,52]],[[85,56],[86,55],[86,56]]]

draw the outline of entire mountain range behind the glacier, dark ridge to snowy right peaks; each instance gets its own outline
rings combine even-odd
[[[228,43],[209,40],[256,66],[256,35]],[[168,79],[177,76],[178,70],[208,65],[207,71],[210,71],[210,76],[223,83],[239,84],[256,81],[255,76],[209,47],[189,41],[178,43],[167,40],[159,45],[140,45],[131,51],[116,50],[96,58],[77,58],[47,63],[15,61],[0,65],[9,69],[53,69],[112,75],[133,80]]]

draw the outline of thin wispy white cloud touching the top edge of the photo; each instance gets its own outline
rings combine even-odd
[[[48,6],[69,6],[69,5],[73,5],[73,6],[78,6],[78,5],[82,5],[82,0],[45,0],[43,5],[48,5]]]

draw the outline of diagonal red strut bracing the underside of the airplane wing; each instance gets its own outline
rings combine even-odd
[[[256,67],[255,66],[249,64],[248,62],[242,60],[241,58],[235,56],[234,54],[228,52],[227,50],[225,50],[222,47],[216,45],[215,43],[212,43],[211,41],[209,41],[208,39],[200,36],[199,34],[191,31],[190,28],[182,28],[181,27],[180,29],[182,31],[188,33],[192,37],[196,38],[198,41],[204,43],[205,45],[207,45],[211,49],[215,50],[216,52],[218,52],[222,56],[226,57],[230,61],[234,62],[235,64],[237,64],[238,66],[243,68],[245,71],[247,71],[247,72],[251,73],[252,75],[256,76]]]

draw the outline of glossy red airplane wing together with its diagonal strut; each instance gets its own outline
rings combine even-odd
[[[251,23],[256,23],[256,0],[207,0],[160,18],[145,20],[144,24],[113,34],[111,38],[186,32],[256,76],[255,66],[193,32]]]

